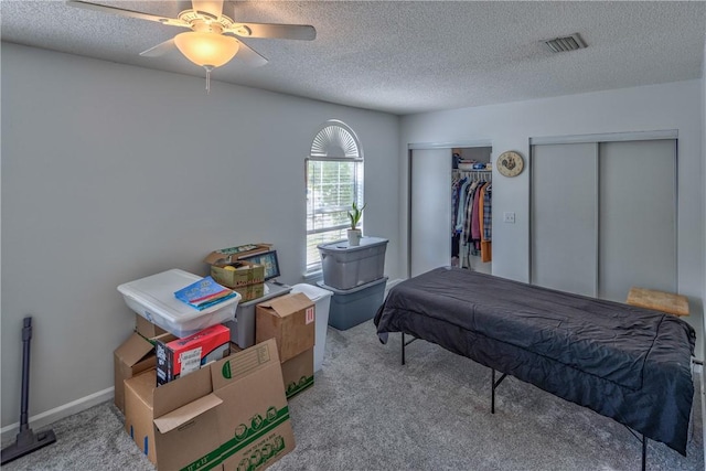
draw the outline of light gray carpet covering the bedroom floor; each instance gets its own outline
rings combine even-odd
[[[490,413],[491,371],[417,341],[400,365],[372,321],[329,328],[314,386],[290,402],[296,449],[271,470],[639,470],[622,425],[507,377]],[[650,440],[649,470],[703,470],[700,377],[687,456]],[[56,443],[3,470],[153,470],[111,403],[51,426]],[[35,430],[38,431],[38,430]],[[9,443],[3,443],[3,447]]]

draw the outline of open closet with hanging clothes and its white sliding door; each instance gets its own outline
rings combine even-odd
[[[491,154],[488,141],[409,146],[409,277],[442,266],[492,271]]]

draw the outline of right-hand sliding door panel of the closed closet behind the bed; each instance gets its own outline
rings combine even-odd
[[[600,144],[599,297],[676,292],[676,141]]]

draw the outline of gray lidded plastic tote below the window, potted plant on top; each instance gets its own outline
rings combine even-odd
[[[363,237],[361,245],[347,240],[318,246],[323,283],[335,289],[351,289],[383,278],[387,239]]]

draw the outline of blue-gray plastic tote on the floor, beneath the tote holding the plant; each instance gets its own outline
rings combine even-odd
[[[322,281],[318,285],[333,292],[329,325],[338,330],[346,330],[375,317],[385,297],[387,277],[345,290],[332,288]]]

